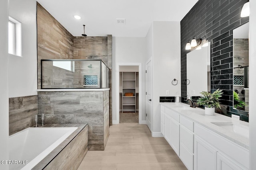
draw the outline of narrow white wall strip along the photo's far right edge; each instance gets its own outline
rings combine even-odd
[[[249,26],[249,72],[256,72],[256,1],[250,1],[250,26]],[[256,103],[256,76],[249,74],[249,125],[250,125],[250,170],[256,169],[256,114],[254,104]]]

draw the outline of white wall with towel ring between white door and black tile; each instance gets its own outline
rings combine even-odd
[[[160,104],[159,97],[180,94],[180,22],[154,21],[153,22],[153,111],[152,134],[160,134]],[[149,30],[151,31],[151,29]],[[148,34],[149,35],[149,34]],[[149,35],[150,36],[150,35]],[[148,37],[150,39],[150,37]],[[150,45],[150,44],[148,44]],[[150,49],[150,47],[147,48]],[[150,52],[148,52],[150,54]],[[172,85],[176,78],[178,84]]]

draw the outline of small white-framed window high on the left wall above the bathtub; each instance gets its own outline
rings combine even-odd
[[[11,17],[8,22],[8,52],[21,56],[21,23]]]

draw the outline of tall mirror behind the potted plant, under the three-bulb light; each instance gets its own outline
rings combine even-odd
[[[210,92],[210,55],[210,42],[207,47],[186,55],[187,97],[201,96],[202,91]]]

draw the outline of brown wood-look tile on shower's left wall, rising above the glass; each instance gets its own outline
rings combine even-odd
[[[37,3],[38,89],[41,89],[41,59],[73,59],[73,38]]]

